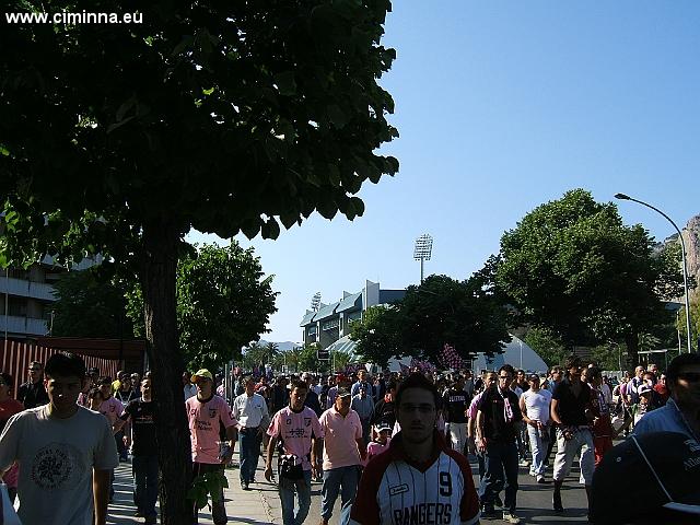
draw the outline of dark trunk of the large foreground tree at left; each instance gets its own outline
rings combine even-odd
[[[192,506],[189,429],[183,399],[175,278],[179,232],[167,220],[143,226],[141,287],[147,351],[155,402],[155,434],[160,467],[161,523],[190,525]]]

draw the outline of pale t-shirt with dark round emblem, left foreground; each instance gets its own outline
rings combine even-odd
[[[18,514],[25,525],[92,525],[92,471],[119,465],[109,423],[84,407],[67,419],[48,405],[20,412],[0,436],[0,469],[20,465]]]

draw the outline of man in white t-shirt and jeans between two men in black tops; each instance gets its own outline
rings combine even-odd
[[[549,441],[549,407],[551,393],[539,387],[539,375],[528,377],[529,388],[520,399],[523,421],[527,424],[529,452],[533,456],[530,474],[537,477],[538,483],[545,483],[545,453]]]

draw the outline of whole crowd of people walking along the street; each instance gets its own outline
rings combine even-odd
[[[27,375],[13,396],[12,377],[0,374],[0,472],[12,501],[19,495],[23,523],[105,523],[114,469],[129,455],[137,515],[156,523],[150,373],[101,376],[59,353],[45,369],[32,362]],[[614,470],[606,466],[614,440],[673,432],[697,443],[700,435],[697,353],[665,372],[638,366],[620,381],[575,355],[547,374],[505,364],[478,376],[413,370],[372,377],[361,369],[223,380],[206,369],[183,374],[194,476],[223,474],[237,445],[241,488],[250,490],[264,451],[284,525],[305,523],[312,480],[322,483],[319,525],[469,525],[497,517],[497,508],[517,524],[521,468],[551,488],[551,509],[562,513],[576,460],[590,518],[607,523],[594,494],[596,476]],[[65,505],[50,498],[56,490],[67,494]],[[340,516],[331,520],[338,498]],[[215,524],[228,522],[223,488],[211,508]]]

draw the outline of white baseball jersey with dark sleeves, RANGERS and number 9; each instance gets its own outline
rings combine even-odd
[[[416,465],[401,448],[401,434],[365,467],[350,513],[351,525],[471,525],[479,500],[467,458],[447,448],[439,432],[427,465]]]

